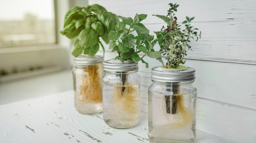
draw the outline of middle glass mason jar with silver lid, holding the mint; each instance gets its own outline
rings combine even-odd
[[[103,118],[113,128],[136,126],[140,119],[140,77],[138,62],[103,62]]]

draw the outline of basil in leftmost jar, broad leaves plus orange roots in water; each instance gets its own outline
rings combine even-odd
[[[87,7],[73,7],[64,18],[64,27],[60,31],[74,42],[72,55],[77,58],[95,57],[99,46],[104,47],[99,37],[108,44],[108,33],[114,30],[119,22],[115,14],[108,12],[104,7],[94,4]],[[79,56],[81,55],[81,56]],[[87,56],[84,56],[87,55]],[[76,66],[73,70],[75,106],[80,113],[93,114],[102,110],[102,64],[87,64]],[[85,111],[95,107],[98,111]]]

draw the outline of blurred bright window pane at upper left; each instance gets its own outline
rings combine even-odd
[[[54,0],[0,2],[0,48],[54,43]]]

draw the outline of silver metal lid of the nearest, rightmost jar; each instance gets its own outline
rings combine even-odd
[[[195,69],[186,67],[183,70],[171,70],[162,66],[151,69],[151,79],[157,82],[183,82],[195,79]]]

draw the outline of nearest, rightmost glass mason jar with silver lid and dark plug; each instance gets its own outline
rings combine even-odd
[[[194,143],[197,90],[195,69],[151,69],[148,88],[148,136],[151,143]]]

